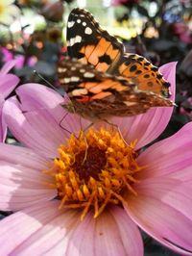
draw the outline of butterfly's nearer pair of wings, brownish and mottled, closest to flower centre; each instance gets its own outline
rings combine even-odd
[[[90,119],[138,115],[151,107],[173,106],[172,101],[152,91],[138,90],[130,78],[101,72],[75,59],[61,61],[58,73],[75,112]]]

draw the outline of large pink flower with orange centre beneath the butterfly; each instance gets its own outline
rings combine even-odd
[[[173,97],[175,66],[161,67]],[[0,222],[1,255],[140,256],[138,227],[178,253],[192,255],[192,123],[138,154],[135,150],[164,130],[173,108],[113,117],[124,140],[132,142],[129,146],[118,134],[111,137],[106,123],[102,130],[94,128],[78,137],[88,121],[82,120],[81,126],[79,117],[65,115],[56,91],[26,84],[16,93],[19,101],[8,99],[4,113],[12,134],[27,147],[0,144],[0,209],[16,212]],[[72,154],[86,142],[85,158],[82,151]],[[118,147],[122,150],[115,151]],[[100,166],[104,169],[98,174]],[[115,192],[124,180],[126,186]],[[67,198],[76,200],[66,204]]]

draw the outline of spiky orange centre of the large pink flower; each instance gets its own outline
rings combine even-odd
[[[136,196],[134,176],[143,167],[136,163],[134,145],[104,128],[82,131],[78,138],[71,135],[60,145],[60,157],[44,170],[53,178],[50,186],[57,190],[60,209],[80,208],[82,219],[90,210],[97,218],[108,205],[124,203],[125,192]]]

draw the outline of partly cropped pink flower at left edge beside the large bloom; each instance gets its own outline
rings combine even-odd
[[[4,116],[2,115],[4,99],[12,92],[19,82],[18,77],[8,74],[14,64],[14,61],[8,62],[7,64],[4,64],[0,70],[0,141],[5,141],[7,134],[7,125]]]

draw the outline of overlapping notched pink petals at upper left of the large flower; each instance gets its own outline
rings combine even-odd
[[[82,124],[79,118],[61,107],[63,98],[54,90],[38,84],[26,84],[16,91],[21,104],[12,97],[4,106],[12,134],[45,156],[57,156],[59,145],[71,133],[80,132]]]

